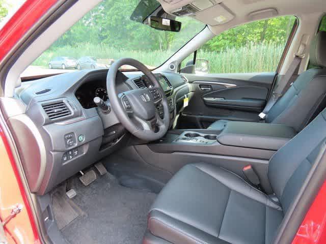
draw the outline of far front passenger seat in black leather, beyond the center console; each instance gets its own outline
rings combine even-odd
[[[283,124],[301,131],[325,107],[326,32],[319,32],[310,47],[314,67],[297,77],[287,92],[269,110],[265,123]],[[257,115],[258,119],[258,115]],[[223,130],[228,120],[215,121],[207,129]]]

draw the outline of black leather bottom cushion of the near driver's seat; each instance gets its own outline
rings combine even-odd
[[[148,218],[171,243],[270,243],[280,205],[240,176],[214,165],[184,166],[159,193]]]

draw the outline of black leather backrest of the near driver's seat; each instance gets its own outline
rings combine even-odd
[[[286,212],[326,138],[326,109],[279,149],[268,164],[268,179]]]

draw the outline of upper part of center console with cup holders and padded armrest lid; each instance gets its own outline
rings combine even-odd
[[[276,124],[230,121],[222,131],[170,130],[148,144],[156,153],[196,153],[269,160],[296,134]]]

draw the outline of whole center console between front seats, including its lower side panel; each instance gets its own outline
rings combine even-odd
[[[166,172],[176,173],[186,164],[205,162],[242,175],[251,165],[266,192],[269,186],[269,159],[295,136],[293,128],[284,125],[230,121],[223,130],[170,130],[164,138],[134,146],[138,157]]]

